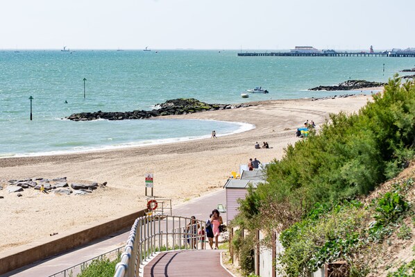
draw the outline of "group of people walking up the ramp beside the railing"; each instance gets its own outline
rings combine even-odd
[[[199,240],[201,240],[201,248],[204,249],[206,237],[207,242],[209,243],[210,249],[219,248],[219,234],[221,233],[220,226],[223,224],[223,219],[219,213],[219,210],[214,209],[212,210],[212,214],[210,214],[209,219],[206,221],[206,229],[204,226],[200,226],[197,223],[196,217],[192,216],[192,221],[187,224],[187,233],[192,234],[192,238],[188,238],[187,242],[189,242],[192,248],[196,249],[196,244],[198,240],[196,239],[196,235],[198,235]]]

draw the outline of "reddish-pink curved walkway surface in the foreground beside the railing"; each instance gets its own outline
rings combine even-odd
[[[158,254],[144,267],[144,277],[232,277],[221,266],[221,251],[185,250]]]

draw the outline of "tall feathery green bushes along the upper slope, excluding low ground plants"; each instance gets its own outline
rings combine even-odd
[[[275,203],[305,215],[317,202],[332,205],[368,194],[407,167],[414,157],[414,137],[415,84],[401,87],[396,77],[357,114],[330,115],[330,124],[323,124],[318,134],[287,146],[285,156],[267,168],[268,183],[249,190],[241,201],[241,217],[248,222]],[[279,212],[276,218],[291,219]],[[260,225],[264,222],[253,228]]]

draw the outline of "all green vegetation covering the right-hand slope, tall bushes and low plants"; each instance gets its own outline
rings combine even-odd
[[[268,167],[267,183],[248,190],[232,224],[248,233],[278,230],[285,247],[278,262],[287,276],[307,276],[334,260],[346,260],[350,276],[365,276],[367,263],[357,254],[396,230],[411,209],[403,190],[413,181],[396,185],[371,205],[356,199],[409,165],[414,137],[415,83],[401,85],[395,76],[358,113],[330,115],[318,134],[289,145],[285,157]],[[401,228],[407,237],[409,227]],[[255,247],[248,245],[242,260]],[[241,266],[246,275],[253,271],[249,262]]]

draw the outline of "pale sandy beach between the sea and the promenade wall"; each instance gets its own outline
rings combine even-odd
[[[223,190],[230,171],[249,158],[270,162],[287,144],[300,140],[296,128],[313,120],[317,128],[330,112],[354,112],[371,96],[263,101],[257,106],[180,115],[180,119],[214,119],[254,124],[251,131],[174,144],[76,153],[62,156],[0,159],[0,251],[33,242],[51,233],[146,207],[144,174],[154,174],[154,193],[178,205],[214,190]],[[170,117],[171,118],[171,117]],[[254,149],[268,142],[271,149]],[[5,181],[67,177],[68,183],[108,182],[92,194],[60,196],[28,189],[22,197],[8,193]],[[218,203],[212,203],[212,208]]]

